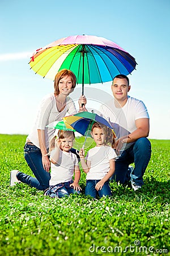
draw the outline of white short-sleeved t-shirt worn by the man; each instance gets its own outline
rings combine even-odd
[[[123,137],[137,129],[135,121],[140,118],[149,118],[145,104],[136,98],[128,96],[128,101],[122,108],[116,108],[114,100],[101,105],[101,116],[107,119],[113,127],[117,138]],[[133,143],[127,143],[128,148]]]

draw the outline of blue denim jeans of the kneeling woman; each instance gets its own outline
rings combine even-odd
[[[42,166],[40,148],[26,143],[24,146],[24,158],[35,177],[19,172],[16,175],[18,180],[42,191],[49,188],[50,173],[46,172]]]

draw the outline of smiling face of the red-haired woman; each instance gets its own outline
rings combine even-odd
[[[72,92],[73,83],[70,76],[64,76],[58,82],[59,94],[69,95]]]

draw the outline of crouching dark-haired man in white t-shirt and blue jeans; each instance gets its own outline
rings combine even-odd
[[[100,112],[112,125],[117,136],[115,149],[118,155],[112,180],[124,184],[131,180],[136,191],[143,185],[143,175],[151,158],[149,116],[142,101],[128,96],[129,79],[117,75],[112,82],[114,100],[102,105]],[[129,164],[134,163],[134,168]]]

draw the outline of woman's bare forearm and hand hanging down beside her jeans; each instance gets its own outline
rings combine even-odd
[[[50,170],[50,161],[48,158],[48,152],[46,150],[46,144],[45,144],[45,131],[38,129],[38,136],[39,136],[39,143],[40,143],[40,150],[42,154],[42,166],[45,171],[49,172]]]

